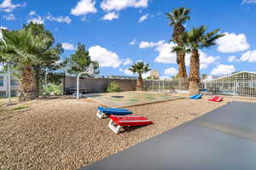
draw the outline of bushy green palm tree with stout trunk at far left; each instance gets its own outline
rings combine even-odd
[[[48,34],[36,34],[35,31],[24,29],[19,31],[3,31],[7,48],[0,43],[0,56],[20,71],[20,100],[36,98],[37,83],[35,65],[48,63],[58,53],[49,49],[54,38]]]

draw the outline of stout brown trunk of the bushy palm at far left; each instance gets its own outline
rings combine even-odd
[[[28,101],[36,98],[36,80],[32,66],[22,69],[20,80],[20,101]]]

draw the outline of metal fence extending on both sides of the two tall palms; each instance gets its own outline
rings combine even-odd
[[[252,74],[234,75],[230,77],[213,77],[212,80],[200,82],[201,94],[228,95],[232,97],[256,98],[256,76]],[[171,93],[176,90],[188,90],[189,81],[147,80],[145,91]]]

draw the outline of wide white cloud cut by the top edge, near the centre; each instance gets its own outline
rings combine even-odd
[[[147,8],[148,0],[103,0],[101,3],[101,8],[104,11],[119,11],[129,7]]]

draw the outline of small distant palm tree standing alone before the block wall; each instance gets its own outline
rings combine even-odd
[[[144,62],[137,62],[134,65],[131,65],[131,68],[129,68],[129,71],[138,74],[137,90],[142,91],[143,90],[143,73],[147,73],[148,71],[151,71],[149,64],[145,64]]]

